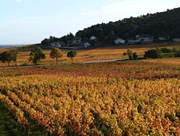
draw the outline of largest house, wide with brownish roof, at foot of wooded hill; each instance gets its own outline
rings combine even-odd
[[[148,34],[139,34],[136,35],[136,43],[152,43],[153,37]]]

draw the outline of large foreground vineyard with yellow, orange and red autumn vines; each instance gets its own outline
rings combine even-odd
[[[32,125],[44,135],[180,135],[179,59],[0,68],[0,77],[0,101],[24,135]]]

